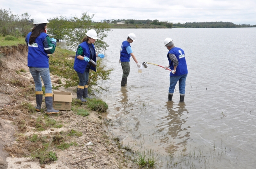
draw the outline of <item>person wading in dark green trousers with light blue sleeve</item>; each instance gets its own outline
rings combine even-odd
[[[140,63],[137,61],[136,57],[134,56],[134,53],[131,50],[130,44],[134,42],[136,39],[136,36],[134,33],[129,33],[127,40],[122,42],[121,50],[120,50],[120,59],[119,63],[121,63],[122,66],[122,81],[121,86],[125,86],[127,83],[127,77],[130,73],[130,57],[132,57],[137,64],[138,68],[140,68]]]

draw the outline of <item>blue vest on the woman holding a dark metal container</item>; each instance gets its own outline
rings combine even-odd
[[[83,54],[84,54],[83,57],[90,58],[91,52],[90,52],[90,48],[89,48],[88,44],[86,42],[82,42],[81,44],[79,44],[79,46],[81,46],[83,49]],[[94,48],[93,44],[92,44],[92,46],[93,46],[93,50],[94,50],[94,55],[92,56],[93,57],[92,60],[96,62],[96,52],[95,52],[95,48]],[[78,56],[78,54],[76,53],[74,69],[75,69],[75,71],[77,71],[79,73],[84,73],[84,70],[88,64],[88,61],[77,59],[77,56]],[[91,70],[96,72],[96,68],[93,66],[91,66]]]

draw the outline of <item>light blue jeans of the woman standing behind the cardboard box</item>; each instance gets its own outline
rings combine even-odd
[[[52,82],[51,82],[49,68],[31,67],[29,68],[29,72],[31,73],[34,79],[36,91],[42,91],[42,82],[41,82],[41,77],[42,77],[43,84],[45,85],[45,93],[52,93]]]

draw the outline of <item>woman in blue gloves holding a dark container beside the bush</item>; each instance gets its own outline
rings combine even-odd
[[[86,102],[88,97],[88,79],[90,69],[96,72],[96,68],[89,64],[90,60],[96,62],[96,57],[103,58],[104,54],[96,54],[94,43],[98,39],[95,30],[90,29],[87,31],[86,36],[83,38],[82,43],[78,45],[75,55],[74,69],[79,77],[79,84],[77,86],[77,99]]]

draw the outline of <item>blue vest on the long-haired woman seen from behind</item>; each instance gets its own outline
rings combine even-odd
[[[32,32],[27,34],[27,41],[29,42],[29,37]],[[48,35],[42,32],[38,37],[36,37],[35,42],[30,45],[28,44],[27,53],[27,66],[37,67],[37,68],[49,68],[49,58],[43,47],[43,41]]]

